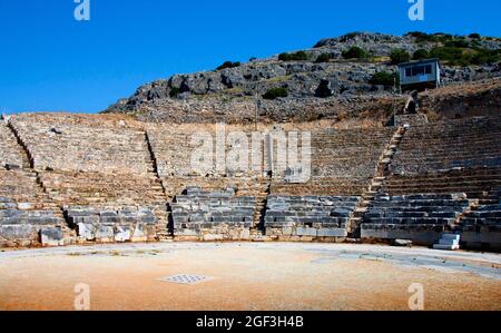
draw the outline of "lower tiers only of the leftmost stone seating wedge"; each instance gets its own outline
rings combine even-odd
[[[0,169],[0,247],[62,245],[69,236],[62,210],[26,170]]]

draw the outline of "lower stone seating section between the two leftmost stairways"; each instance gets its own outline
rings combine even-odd
[[[80,241],[114,239],[102,231],[95,234],[95,229],[99,229],[97,224],[108,232],[114,229],[117,242],[153,241],[167,236],[167,198],[160,179],[156,177],[47,172],[40,173],[40,180],[50,197],[65,206],[70,226],[77,228]],[[151,212],[154,218],[145,212]],[[84,218],[84,226],[73,221],[75,216],[89,217],[88,221]],[[107,219],[104,216],[117,218]],[[109,225],[111,221],[116,221],[112,227]],[[131,232],[130,237],[127,237],[122,229],[138,232]],[[158,235],[155,236],[155,233]]]

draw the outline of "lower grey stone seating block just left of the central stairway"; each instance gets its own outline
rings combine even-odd
[[[255,197],[237,197],[234,188],[207,192],[189,187],[171,204],[174,235],[180,239],[249,239],[255,206]]]

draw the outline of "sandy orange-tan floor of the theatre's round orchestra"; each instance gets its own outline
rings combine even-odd
[[[379,245],[160,243],[0,253],[0,310],[501,310],[501,255]],[[178,274],[195,284],[161,281]]]

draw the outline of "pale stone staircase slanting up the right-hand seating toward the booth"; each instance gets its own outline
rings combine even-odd
[[[393,156],[395,155],[405,131],[405,127],[399,127],[391,138],[390,144],[380,156],[374,177],[371,179],[367,189],[362,194],[362,198],[354,210],[353,217],[347,224],[347,234],[350,237],[360,238],[360,225],[364,219],[364,215],[369,212],[371,203],[374,200],[386,179],[385,175],[387,174],[389,166],[392,163]]]

